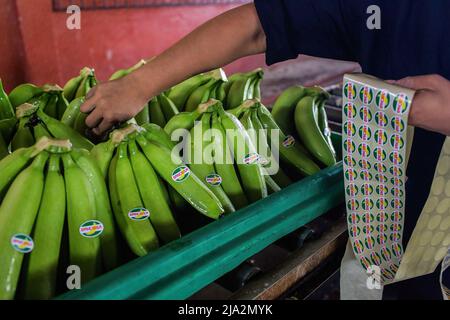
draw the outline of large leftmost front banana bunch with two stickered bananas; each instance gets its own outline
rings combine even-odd
[[[89,152],[43,137],[0,161],[0,172],[0,299],[14,298],[19,278],[26,299],[55,295],[64,234],[82,283],[118,266],[106,184]]]

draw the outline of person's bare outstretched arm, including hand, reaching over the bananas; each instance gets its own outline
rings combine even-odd
[[[255,6],[244,5],[206,22],[130,75],[93,88],[81,111],[95,134],[134,117],[153,96],[198,74],[266,50]]]

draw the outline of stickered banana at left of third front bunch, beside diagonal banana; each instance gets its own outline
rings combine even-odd
[[[212,157],[211,149],[211,136],[208,136],[207,132],[210,133],[211,128],[211,114],[205,113],[202,116],[201,121],[192,128],[190,135],[188,135],[187,142],[187,159],[189,159],[189,167],[192,172],[199,177],[206,186],[214,193],[217,199],[220,200],[225,213],[232,213],[236,211],[228,198],[225,191],[223,191],[220,186],[223,178],[218,175],[214,169],[214,162]],[[196,151],[200,151],[200,158],[197,156]],[[205,153],[211,151],[209,157],[205,157]],[[208,159],[209,158],[209,159]]]

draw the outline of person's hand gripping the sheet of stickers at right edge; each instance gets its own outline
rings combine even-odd
[[[450,136],[450,81],[439,75],[407,77],[393,83],[417,90],[409,124]]]

